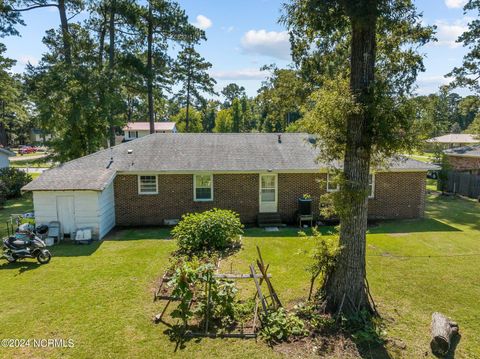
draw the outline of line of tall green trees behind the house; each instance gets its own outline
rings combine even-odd
[[[348,62],[347,38],[333,47],[318,42],[319,51],[312,55],[305,38],[291,29],[295,66],[264,66],[268,75],[256,96],[248,97],[235,83],[216,93],[216,81],[209,75],[212,64],[196,51],[206,41],[205,32],[189,23],[175,1],[7,0],[0,7],[0,36],[18,35],[21,26],[28,26],[22,14],[45,7],[58,10],[60,26],[46,32],[47,51],[38,65],[13,75],[15,61],[5,57],[0,44],[0,144],[28,142],[29,129],[37,127],[54,135],[50,145],[60,161],[114,144],[115,134],[132,121],[149,121],[152,128],[155,121],[175,121],[182,132],[311,131],[307,120],[316,113],[313,100],[328,88],[325,79]],[[474,10],[475,4],[466,9]],[[85,10],[87,18],[76,21],[76,14]],[[293,15],[284,16],[286,25],[304,21]],[[392,46],[399,41],[426,41],[422,27],[411,25],[415,32],[408,32],[402,26],[396,32],[389,29],[379,51],[389,48],[398,55],[402,51]],[[392,82],[410,94],[402,103],[417,138],[478,132],[478,96],[454,92],[456,86],[478,92],[477,81],[472,81],[478,72],[475,26],[472,22],[460,39],[473,46],[465,65],[452,70],[455,81],[438,93],[411,94],[409,70],[423,70],[422,54],[404,53],[403,69],[398,66]],[[385,76],[392,74],[388,61],[382,66]],[[223,101],[215,100],[217,96]]]

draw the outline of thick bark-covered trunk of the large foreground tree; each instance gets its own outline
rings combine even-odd
[[[363,11],[350,15],[352,27],[350,89],[364,111],[347,118],[344,158],[345,194],[340,217],[342,250],[334,271],[325,283],[327,309],[346,314],[371,310],[365,285],[365,253],[368,215],[368,177],[373,116],[373,84],[376,50],[376,1],[363,1]],[[356,5],[358,6],[358,4]],[[342,211],[343,212],[343,211]],[[342,306],[340,308],[340,306]]]

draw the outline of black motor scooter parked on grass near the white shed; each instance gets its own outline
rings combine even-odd
[[[47,226],[40,226],[36,230],[29,224],[20,226],[14,236],[3,240],[3,254],[0,258],[9,263],[15,263],[18,259],[36,258],[38,263],[47,264],[52,255],[39,237],[47,231]]]

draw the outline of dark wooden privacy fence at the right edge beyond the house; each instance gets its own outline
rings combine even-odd
[[[480,197],[480,175],[459,171],[444,171],[440,175],[439,190],[466,197]]]

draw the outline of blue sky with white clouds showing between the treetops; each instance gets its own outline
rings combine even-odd
[[[198,51],[213,64],[212,76],[217,90],[230,82],[256,94],[265,73],[259,69],[275,63],[286,67],[290,63],[288,35],[278,24],[283,0],[179,0],[190,21],[206,31],[208,41]],[[416,0],[427,24],[438,26],[438,42],[426,46],[427,71],[418,78],[419,94],[436,92],[454,66],[462,63],[465,49],[456,44],[456,38],[466,29],[471,16],[463,14],[465,0]],[[58,12],[47,8],[25,13],[25,27],[21,37],[1,39],[7,46],[7,55],[18,61],[16,72],[25,64],[37,63],[45,51],[41,40],[45,31],[59,25]],[[466,94],[466,91],[458,91]]]

